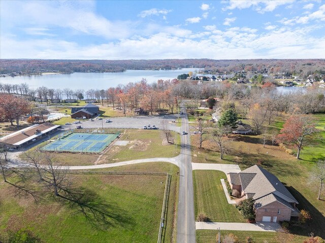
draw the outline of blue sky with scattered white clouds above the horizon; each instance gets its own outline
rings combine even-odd
[[[0,58],[325,58],[325,0],[0,0]]]

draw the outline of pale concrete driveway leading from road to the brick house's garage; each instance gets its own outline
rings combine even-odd
[[[239,231],[282,231],[278,223],[222,223],[222,222],[196,222],[196,229],[239,230]]]

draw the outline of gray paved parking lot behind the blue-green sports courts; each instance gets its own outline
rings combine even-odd
[[[141,116],[122,116],[122,117],[112,117],[110,118],[110,123],[105,123],[105,118],[103,120],[94,121],[82,120],[81,124],[64,125],[64,128],[76,129],[77,126],[82,128],[137,128],[142,129],[144,126],[151,127],[155,125],[157,128],[160,127],[161,121],[167,119],[170,121],[169,129],[171,131],[180,132],[180,127],[177,127],[175,123],[171,123],[173,119],[177,118],[177,114],[174,115],[141,115]]]

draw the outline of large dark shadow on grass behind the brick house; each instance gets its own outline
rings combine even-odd
[[[287,189],[293,196],[299,201],[298,208],[299,210],[305,209],[310,214],[312,219],[308,221],[306,224],[298,225],[294,224],[290,226],[290,233],[298,234],[298,235],[306,235],[313,232],[315,236],[320,236],[325,238],[325,217],[316,209],[309,200],[304,197],[299,191],[297,191],[294,187],[288,186]],[[316,197],[316,194],[315,194]]]

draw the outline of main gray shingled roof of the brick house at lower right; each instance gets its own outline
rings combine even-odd
[[[245,193],[255,193],[253,199],[258,199],[270,193],[287,200],[295,201],[296,198],[285,188],[279,179],[267,170],[255,165],[239,173],[242,188]]]

